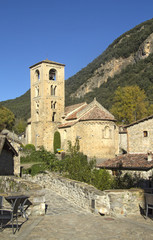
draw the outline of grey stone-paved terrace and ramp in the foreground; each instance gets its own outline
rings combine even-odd
[[[47,214],[30,217],[15,235],[7,228],[0,240],[152,240],[153,221],[138,217],[112,218],[85,212],[46,190]],[[21,218],[21,220],[23,220]]]

